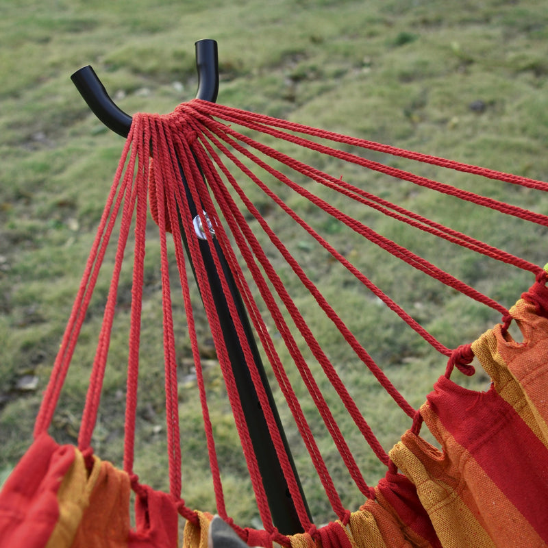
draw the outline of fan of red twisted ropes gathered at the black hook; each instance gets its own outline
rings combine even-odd
[[[221,122],[223,121],[223,122]],[[240,133],[227,125],[227,123],[239,125],[246,128],[244,133]],[[277,181],[284,184],[293,192],[297,192],[300,197],[308,200],[327,213],[332,219],[336,219],[341,225],[345,225],[356,234],[360,234],[370,242],[375,243],[388,253],[410,264],[415,269],[429,275],[430,277],[442,282],[443,284],[462,292],[464,295],[475,299],[503,315],[505,322],[504,328],[508,327],[511,318],[508,310],[495,300],[471,286],[464,284],[453,275],[438,268],[432,262],[421,258],[416,253],[399,245],[397,242],[382,236],[375,232],[371,227],[353,219],[343,211],[337,210],[326,200],[314,195],[313,192],[297,184],[292,177],[284,173],[285,167],[292,173],[303,175],[317,184],[326,188],[340,192],[345,197],[357,201],[358,203],[372,208],[373,210],[384,214],[391,219],[406,223],[415,229],[432,234],[459,245],[471,251],[482,253],[488,258],[512,264],[520,269],[531,271],[537,275],[537,284],[535,290],[524,295],[525,298],[534,301],[539,310],[548,310],[548,297],[545,295],[546,275],[543,274],[539,266],[518,258],[511,253],[497,249],[487,243],[481,242],[462,232],[450,227],[445,227],[427,219],[425,216],[412,212],[401,206],[397,206],[386,199],[382,199],[366,192],[353,184],[345,182],[342,178],[336,178],[328,173],[299,162],[290,155],[277,151],[273,147],[262,144],[249,136],[249,130],[264,134],[275,139],[282,139],[291,142],[297,147],[304,147],[315,151],[316,153],[329,155],[346,162],[358,164],[367,169],[374,169],[380,173],[385,173],[398,179],[404,179],[425,188],[430,188],[446,195],[458,197],[479,206],[484,206],[497,210],[503,214],[510,214],[525,221],[531,221],[540,225],[548,226],[548,217],[535,212],[529,212],[523,208],[512,206],[501,201],[488,197],[477,195],[473,192],[453,188],[447,184],[436,182],[426,177],[414,175],[401,169],[396,169],[378,162],[372,162],[361,158],[359,155],[349,153],[344,150],[338,150],[332,146],[323,144],[329,141],[340,145],[351,145],[362,149],[371,149],[382,153],[408,158],[409,160],[433,164],[445,169],[453,169],[464,173],[471,173],[490,179],[519,184],[527,188],[536,190],[548,190],[548,184],[527,179],[526,177],[517,177],[506,173],[483,169],[452,160],[445,160],[434,156],[424,155],[411,151],[404,151],[388,145],[380,145],[367,140],[360,140],[341,136],[332,132],[325,132],[320,129],[314,129],[303,125],[280,121],[269,116],[253,114],[234,108],[223,107],[206,101],[190,101],[180,105],[173,114],[167,116],[138,114],[134,116],[134,122],[125,144],[121,162],[119,163],[114,183],[110,190],[105,210],[101,216],[97,235],[90,253],[90,258],[86,264],[82,282],[71,312],[71,317],[67,323],[60,351],[53,366],[53,372],[50,382],[47,386],[44,400],[38,413],[35,426],[35,436],[45,432],[51,423],[56,403],[60,397],[60,390],[69,369],[69,364],[73,356],[77,338],[79,336],[84,316],[92,297],[92,291],[95,288],[99,268],[103,262],[110,237],[114,230],[116,217],[121,217],[121,226],[119,239],[116,247],[116,256],[114,260],[114,270],[112,273],[110,290],[105,304],[103,315],[103,324],[97,351],[90,374],[90,385],[86,395],[86,404],[82,417],[82,427],[79,432],[78,445],[80,449],[89,451],[92,440],[92,432],[97,420],[99,409],[101,387],[105,375],[105,367],[108,361],[108,347],[110,336],[116,312],[116,292],[119,285],[121,268],[123,264],[124,250],[129,238],[129,231],[133,222],[135,213],[135,244],[134,244],[134,269],[132,273],[132,307],[130,313],[129,329],[129,355],[127,364],[127,401],[125,409],[125,447],[124,447],[124,469],[132,477],[132,486],[136,492],[142,488],[138,484],[138,478],[133,472],[134,466],[134,446],[136,429],[136,410],[137,410],[137,390],[139,375],[139,352],[140,352],[140,325],[142,315],[142,287],[143,272],[145,264],[145,238],[147,224],[147,201],[150,202],[151,212],[155,221],[160,227],[160,277],[162,280],[162,312],[163,312],[163,347],[164,347],[164,373],[165,373],[165,393],[166,393],[166,432],[167,445],[169,448],[169,484],[171,497],[177,504],[179,512],[193,522],[197,522],[197,514],[186,506],[181,499],[182,477],[182,453],[181,453],[181,434],[179,431],[179,398],[177,389],[177,356],[175,354],[175,326],[173,325],[172,296],[171,296],[171,277],[168,243],[171,238],[166,235],[167,232],[173,232],[173,242],[175,249],[175,262],[179,276],[179,283],[182,290],[184,301],[184,310],[186,313],[186,323],[188,325],[188,334],[190,337],[190,347],[195,361],[197,384],[199,391],[199,400],[203,414],[203,427],[206,433],[208,447],[208,457],[210,460],[210,469],[214,484],[214,493],[216,497],[216,509],[223,519],[232,523],[227,515],[223,486],[221,482],[221,467],[216,453],[214,428],[210,419],[208,391],[203,377],[201,358],[199,355],[197,331],[195,325],[195,316],[190,298],[190,288],[187,279],[187,263],[183,251],[182,240],[186,240],[188,245],[188,256],[197,277],[199,290],[203,300],[203,307],[206,311],[208,323],[210,324],[212,338],[219,358],[219,364],[225,379],[229,403],[232,406],[234,421],[238,436],[240,437],[242,451],[245,456],[247,468],[251,478],[253,492],[256,496],[257,506],[266,534],[269,538],[277,540],[284,544],[288,539],[275,529],[272,523],[271,511],[266,501],[266,493],[262,484],[259,464],[253,443],[249,433],[249,427],[245,420],[245,414],[242,409],[242,402],[238,395],[238,387],[232,364],[229,362],[229,352],[223,336],[223,326],[216,313],[212,288],[209,284],[210,275],[219,277],[219,283],[226,296],[229,315],[234,323],[234,329],[238,338],[245,361],[249,364],[249,373],[256,388],[257,397],[260,406],[264,412],[269,434],[273,440],[273,445],[282,471],[288,482],[288,488],[301,525],[304,530],[311,532],[316,540],[323,540],[329,545],[347,546],[347,537],[343,527],[329,527],[322,530],[316,530],[310,523],[306,505],[301,497],[301,491],[292,470],[290,459],[284,449],[282,433],[274,417],[273,410],[270,407],[269,396],[266,393],[262,383],[258,366],[254,360],[253,350],[247,339],[245,328],[242,325],[240,314],[236,303],[231,297],[229,282],[227,281],[223,262],[228,265],[230,274],[234,278],[234,283],[238,288],[242,303],[244,303],[249,320],[256,332],[258,342],[264,349],[264,355],[268,360],[271,371],[275,376],[276,382],[284,396],[292,417],[297,425],[299,434],[303,443],[310,454],[312,464],[316,469],[321,484],[325,490],[329,503],[331,503],[334,512],[346,525],[349,519],[349,511],[343,505],[340,494],[332,477],[329,475],[327,464],[325,463],[318,443],[314,438],[314,432],[308,423],[305,412],[295,388],[290,382],[288,366],[284,366],[282,359],[277,352],[273,337],[269,333],[269,326],[264,320],[260,306],[251,290],[253,284],[262,299],[262,303],[268,310],[273,326],[281,337],[284,345],[288,349],[292,362],[295,364],[299,375],[303,380],[304,386],[312,397],[314,405],[319,411],[321,419],[334,441],[349,475],[356,483],[361,493],[365,497],[374,497],[374,490],[370,488],[360,471],[358,463],[351,453],[345,435],[341,431],[332,410],[321,393],[318,380],[314,377],[312,369],[307,363],[305,353],[299,347],[295,338],[295,327],[302,340],[310,349],[310,353],[317,360],[322,368],[325,377],[334,388],[345,410],[360,430],[366,442],[373,449],[375,455],[381,462],[390,466],[390,460],[386,451],[379,443],[369,424],[362,416],[356,402],[351,397],[347,386],[338,375],[335,366],[327,357],[321,347],[318,338],[312,332],[312,329],[306,323],[305,316],[301,313],[295,302],[292,300],[290,292],[284,285],[277,268],[269,259],[269,254],[263,249],[252,227],[246,220],[246,214],[240,210],[236,199],[240,201],[243,208],[256,219],[258,226],[269,238],[273,248],[285,260],[291,271],[295,273],[300,283],[312,295],[314,301],[323,311],[325,316],[334,325],[334,329],[343,336],[346,343],[356,353],[356,356],[369,368],[375,375],[379,384],[395,400],[397,405],[410,418],[413,419],[413,428],[418,432],[421,416],[416,412],[410,403],[403,398],[399,390],[390,382],[384,371],[375,363],[366,349],[360,344],[360,341],[351,329],[345,324],[345,321],[336,312],[335,308],[322,295],[318,286],[306,274],[305,269],[299,261],[292,256],[288,247],[282,242],[274,229],[260,214],[256,204],[249,198],[245,190],[247,183],[255,185],[264,196],[270,199],[276,206],[296,223],[308,235],[310,235],[318,244],[329,253],[338,263],[340,263],[353,277],[366,288],[373,292],[373,295],[381,299],[390,310],[393,310],[397,316],[405,321],[414,331],[423,337],[434,349],[449,357],[446,375],[449,376],[453,367],[457,367],[464,374],[473,374],[473,367],[470,365],[473,359],[470,345],[462,345],[458,349],[449,349],[440,343],[432,334],[421,326],[408,312],[403,310],[393,299],[390,299],[371,279],[356,268],[343,253],[338,251],[326,238],[317,232],[305,219],[303,219],[295,210],[290,208],[284,199],[280,198],[269,186],[257,175],[256,168],[262,170],[266,177],[274,177]],[[313,138],[314,140],[312,140]],[[322,142],[323,141],[323,142]],[[153,156],[153,169],[149,161]],[[227,160],[221,158],[221,155]],[[276,164],[271,164],[269,159],[275,160]],[[253,168],[249,166],[253,164]],[[179,168],[180,163],[180,168]],[[126,166],[127,164],[127,166]],[[282,166],[277,169],[274,165]],[[184,179],[186,179],[187,188],[182,186],[182,169]],[[234,170],[242,173],[245,182],[240,181]],[[190,213],[190,199],[196,204],[197,216],[203,226],[207,225],[207,219],[212,222],[214,227],[214,236],[208,237],[208,249],[211,252],[214,263],[214,273],[208,273],[206,264],[201,254],[200,244],[195,234],[192,214]],[[237,252],[240,253],[240,264]],[[245,268],[245,271],[244,271]],[[537,287],[538,286],[538,287]],[[538,296],[540,295],[540,297]],[[263,307],[264,308],[264,307]],[[289,325],[289,320],[294,326]],[[236,527],[238,529],[238,527]],[[239,530],[239,529],[238,529]],[[245,531],[240,530],[241,534]],[[249,536],[249,532],[248,532]],[[250,537],[251,538],[251,537]]]

